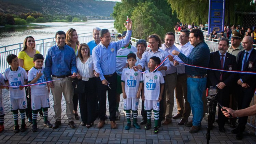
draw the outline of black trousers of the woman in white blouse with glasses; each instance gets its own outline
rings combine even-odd
[[[79,94],[79,106],[81,119],[84,124],[91,124],[95,121],[95,103],[97,99],[96,78],[89,78],[88,81],[83,81],[85,85],[85,93]]]

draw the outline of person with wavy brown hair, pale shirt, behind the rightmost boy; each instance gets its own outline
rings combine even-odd
[[[149,44],[149,47],[150,49],[148,51],[145,51],[143,54],[142,54],[142,57],[141,57],[141,60],[140,62],[138,63],[138,65],[134,68],[134,70],[141,70],[142,68],[145,68],[146,70],[148,69],[147,68],[147,63],[149,62],[150,58],[152,56],[157,56],[160,58],[161,61],[163,61],[167,56],[168,56],[168,53],[166,51],[163,51],[162,49],[160,49],[159,47],[162,46],[161,44],[161,39],[159,37],[159,35],[157,34],[152,34],[150,35],[148,38],[148,44]],[[163,76],[165,76],[165,71],[169,70],[170,69],[170,61],[169,59],[167,59],[164,63],[163,63],[163,66],[159,67],[157,70],[160,71],[162,73]],[[165,92],[163,92],[165,93]],[[142,105],[144,107],[144,105]],[[158,126],[160,127],[161,126],[161,121],[163,119],[163,97],[162,97],[162,100],[160,101],[160,111],[159,111],[159,121],[158,121]],[[146,124],[147,119],[143,119],[141,121],[141,124]]]

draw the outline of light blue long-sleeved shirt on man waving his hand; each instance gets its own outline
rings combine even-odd
[[[110,42],[108,48],[99,43],[93,49],[94,69],[100,74],[100,80],[105,80],[103,75],[110,75],[116,71],[116,52],[129,43],[131,30],[127,30],[126,37],[117,42]]]

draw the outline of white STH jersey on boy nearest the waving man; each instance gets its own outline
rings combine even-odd
[[[130,71],[131,70],[131,71]],[[133,69],[124,68],[121,81],[125,83],[125,93],[127,98],[136,98],[140,83],[143,82],[143,75]]]

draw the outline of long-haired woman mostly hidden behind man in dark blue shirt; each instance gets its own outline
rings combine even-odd
[[[75,29],[70,28],[67,31],[67,37],[66,37],[66,44],[70,47],[72,47],[75,51],[75,54],[77,54],[77,47],[79,46],[79,41],[78,41],[78,35]],[[74,94],[73,96],[73,104],[74,104],[74,117],[76,120],[79,120],[80,117],[77,113],[77,106],[78,106],[78,96]]]

